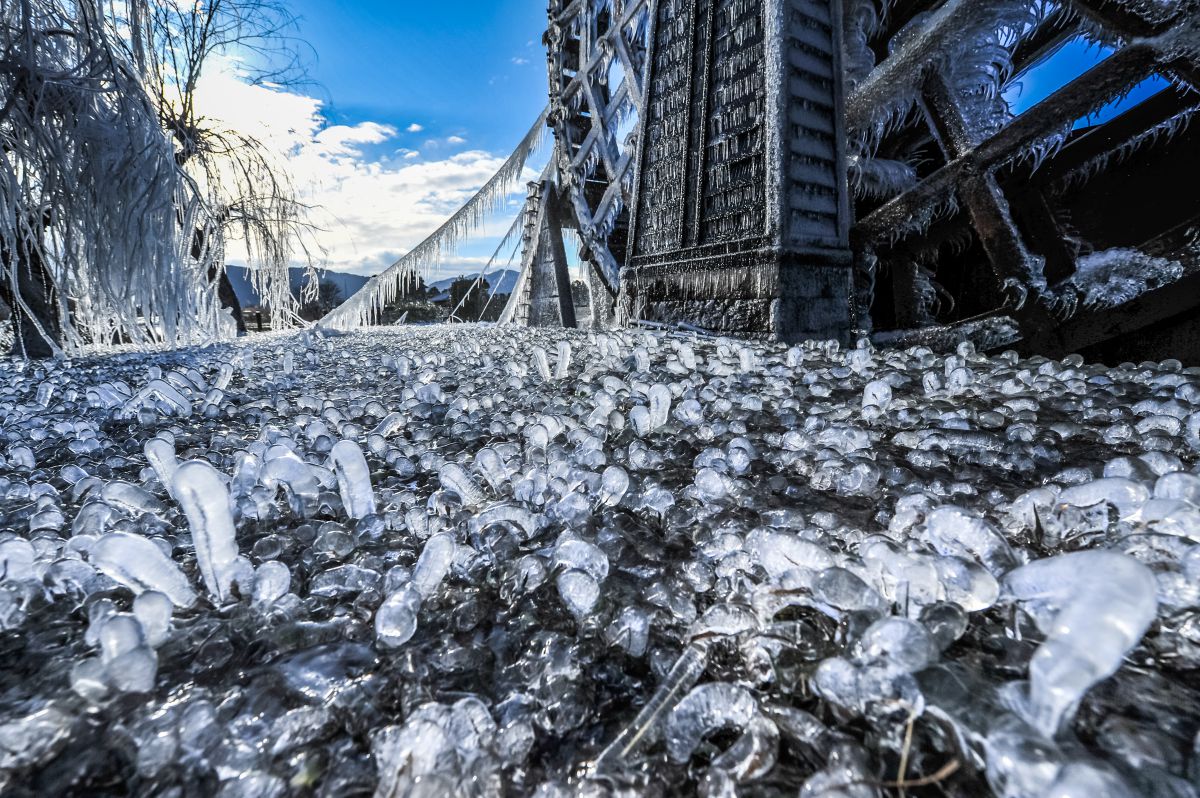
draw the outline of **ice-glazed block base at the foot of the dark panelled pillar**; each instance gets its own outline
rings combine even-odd
[[[784,342],[850,342],[856,316],[848,252],[751,252],[740,263],[722,260],[626,268],[622,292],[635,317],[648,322]]]

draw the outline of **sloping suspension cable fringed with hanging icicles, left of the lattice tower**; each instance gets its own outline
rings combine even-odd
[[[432,274],[446,256],[457,250],[460,242],[479,229],[504,205],[505,199],[521,180],[529,157],[541,148],[548,110],[548,108],[542,109],[512,155],[492,175],[491,180],[475,192],[474,197],[468,199],[427,239],[413,247],[408,254],[368,280],[353,296],[325,316],[318,326],[336,330],[366,326],[378,318],[379,311],[384,306],[396,300],[414,274],[421,276]]]

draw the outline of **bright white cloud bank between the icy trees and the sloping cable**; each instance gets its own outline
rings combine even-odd
[[[390,155],[376,155],[377,145],[400,134],[395,127],[371,121],[328,125],[320,101],[248,85],[228,65],[205,73],[198,101],[210,119],[256,136],[278,154],[304,202],[317,206],[313,222],[320,228],[324,265],[337,271],[383,271],[397,253],[437,229],[504,161],[482,150],[437,161],[422,161],[419,150],[398,146],[385,148]],[[408,130],[414,127],[420,128],[414,124]],[[466,143],[458,136],[445,140]],[[374,148],[371,155],[367,148]],[[510,198],[514,214],[520,193]],[[480,235],[499,236],[510,221],[498,218]],[[478,268],[474,250],[448,259],[442,274]]]

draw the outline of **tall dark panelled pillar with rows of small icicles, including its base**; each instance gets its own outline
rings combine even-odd
[[[622,292],[641,318],[848,340],[840,0],[659,0]]]

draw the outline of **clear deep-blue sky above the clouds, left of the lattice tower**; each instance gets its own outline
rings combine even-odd
[[[416,124],[424,130],[406,132],[406,146],[457,136],[466,139],[460,148],[508,152],[546,104],[544,2],[299,0],[290,7],[317,53],[310,72],[334,122],[400,131]]]

